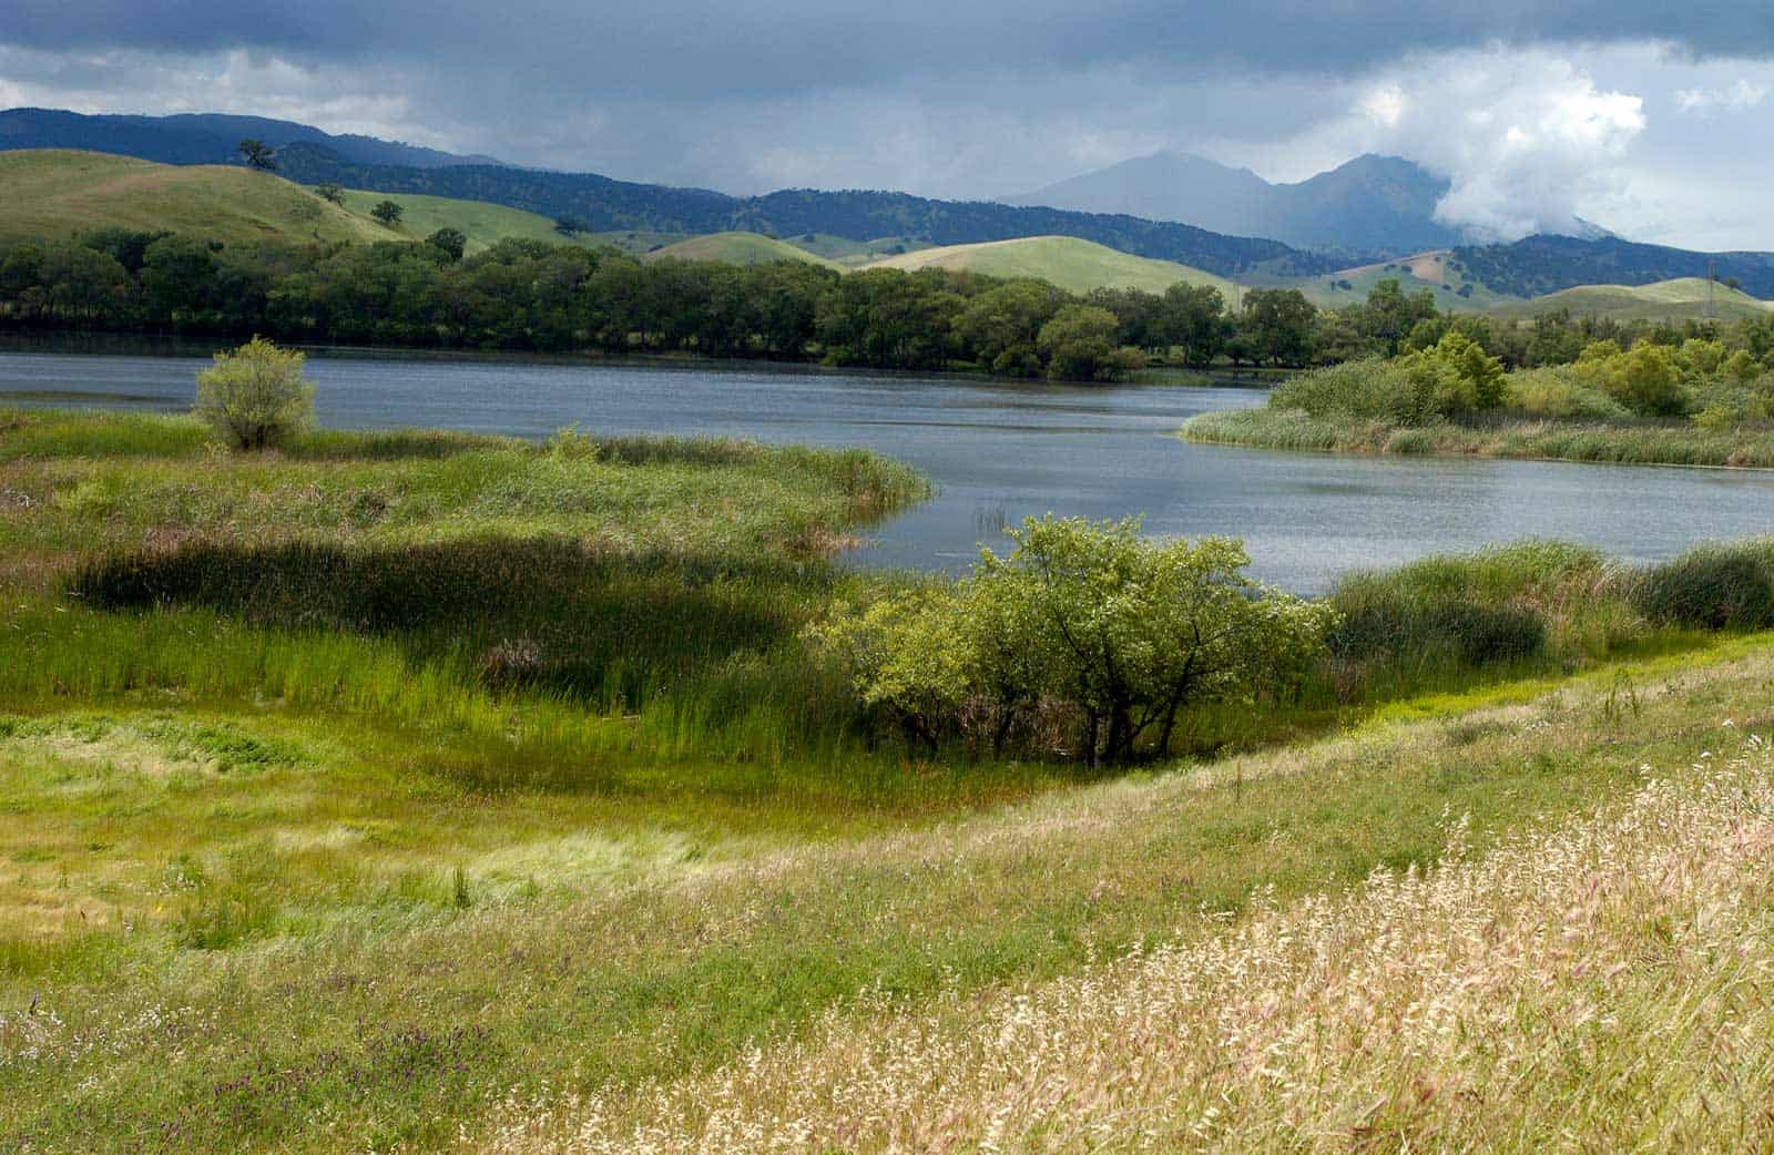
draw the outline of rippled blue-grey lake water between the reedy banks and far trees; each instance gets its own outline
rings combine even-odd
[[[204,362],[0,353],[0,405],[177,410]],[[749,436],[866,445],[938,495],[875,532],[867,564],[963,570],[1025,515],[1146,515],[1157,534],[1242,536],[1258,577],[1300,593],[1425,554],[1552,536],[1636,561],[1774,532],[1774,472],[1540,461],[1334,458],[1189,445],[1205,410],[1251,389],[997,385],[956,378],[759,373],[397,357],[314,357],[323,424],[545,436]]]

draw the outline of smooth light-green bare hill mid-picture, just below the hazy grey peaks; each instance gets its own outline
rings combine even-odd
[[[921,248],[875,261],[866,268],[947,268],[986,273],[990,277],[1040,277],[1073,293],[1087,293],[1100,287],[1164,293],[1180,280],[1215,286],[1228,300],[1235,293],[1235,286],[1229,280],[1205,273],[1199,268],[1176,264],[1174,261],[1135,257],[1075,236],[1027,236],[1015,241]]]

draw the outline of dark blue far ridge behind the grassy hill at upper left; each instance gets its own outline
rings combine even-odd
[[[273,149],[291,144],[325,147],[349,163],[408,165],[497,165],[491,156],[456,156],[413,144],[376,137],[337,137],[294,121],[234,117],[215,112],[170,117],[83,115],[53,108],[9,108],[0,112],[0,149],[87,149],[119,153],[163,165],[227,165],[239,161],[247,137]]]

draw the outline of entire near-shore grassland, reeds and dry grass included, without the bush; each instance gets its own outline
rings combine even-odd
[[[798,656],[924,493],[0,412],[0,1146],[1774,1143],[1774,546],[1352,577],[1291,711],[1109,775]]]

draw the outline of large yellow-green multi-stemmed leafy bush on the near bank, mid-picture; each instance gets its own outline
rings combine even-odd
[[[1258,587],[1236,541],[1155,543],[1139,522],[1029,518],[953,589],[839,616],[820,640],[866,704],[931,754],[965,735],[1001,756],[1057,736],[1091,766],[1171,749],[1201,703],[1283,701],[1334,614]]]

